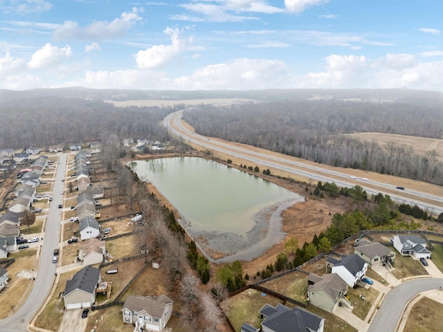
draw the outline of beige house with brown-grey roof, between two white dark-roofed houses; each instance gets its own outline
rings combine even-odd
[[[392,264],[395,259],[395,252],[383,246],[379,242],[370,242],[365,239],[354,243],[354,254],[363,258],[370,268],[384,264]]]

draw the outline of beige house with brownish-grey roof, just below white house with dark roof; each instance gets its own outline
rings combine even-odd
[[[332,313],[338,303],[347,302],[347,283],[336,273],[325,273],[321,277],[310,273],[308,277],[307,294],[309,303]]]

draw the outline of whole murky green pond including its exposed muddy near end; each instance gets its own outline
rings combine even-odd
[[[304,201],[258,176],[204,158],[137,160],[133,169],[174,205],[183,228],[214,262],[262,255],[284,237],[282,211]]]

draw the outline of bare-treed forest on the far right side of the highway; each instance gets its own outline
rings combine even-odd
[[[183,114],[197,133],[338,167],[443,184],[443,164],[431,150],[358,140],[347,133],[443,137],[443,107],[410,102],[300,100],[200,105]]]

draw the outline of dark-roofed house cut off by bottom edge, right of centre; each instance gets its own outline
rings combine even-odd
[[[302,308],[265,304],[259,311],[262,332],[323,332],[325,319]]]

